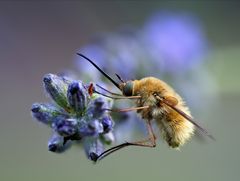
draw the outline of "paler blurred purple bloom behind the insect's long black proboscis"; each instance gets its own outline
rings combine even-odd
[[[94,41],[79,49],[79,52],[92,59],[106,72],[118,73],[123,78],[136,75],[138,61],[141,60],[142,48],[135,32],[121,31],[102,35],[101,40]],[[103,80],[103,76],[88,62],[77,57],[77,66],[81,75],[91,72],[91,79]],[[87,76],[87,77],[88,77]]]

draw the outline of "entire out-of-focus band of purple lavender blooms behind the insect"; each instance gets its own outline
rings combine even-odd
[[[185,12],[157,12],[142,28],[105,33],[99,39],[79,51],[105,71],[114,70],[127,79],[186,72],[201,62],[208,49],[200,21]],[[79,60],[78,65],[80,72],[88,67],[94,80],[102,79],[87,62]]]

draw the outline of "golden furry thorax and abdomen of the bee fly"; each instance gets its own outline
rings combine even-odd
[[[145,120],[155,120],[162,137],[170,147],[178,148],[183,145],[194,133],[194,125],[170,107],[159,102],[154,94],[160,97],[174,97],[176,107],[191,116],[188,107],[182,98],[165,82],[146,77],[133,81],[133,95],[140,95],[137,106],[150,106],[148,110],[138,110]],[[150,110],[150,111],[149,111]]]

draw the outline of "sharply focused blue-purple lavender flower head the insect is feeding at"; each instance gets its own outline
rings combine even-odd
[[[95,161],[104,144],[114,141],[113,122],[106,111],[112,106],[111,100],[90,95],[89,85],[66,77],[47,74],[43,82],[55,104],[34,103],[31,111],[34,118],[54,132],[48,141],[49,151],[63,152],[74,141],[82,140],[87,157]]]

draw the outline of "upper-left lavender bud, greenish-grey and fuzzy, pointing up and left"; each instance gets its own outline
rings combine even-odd
[[[67,101],[67,88],[68,83],[67,79],[59,77],[54,74],[47,74],[43,78],[45,89],[50,97],[65,110],[69,110],[69,105]]]

